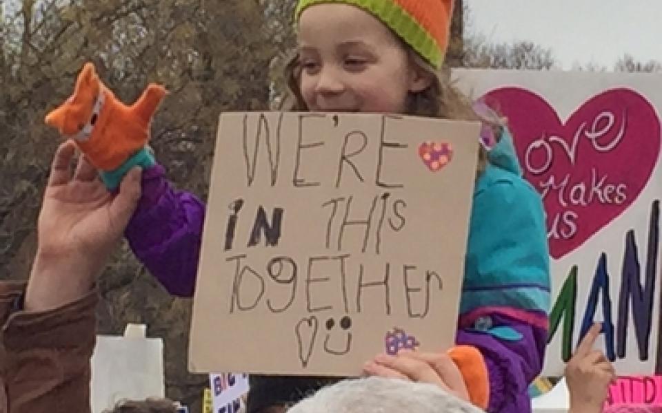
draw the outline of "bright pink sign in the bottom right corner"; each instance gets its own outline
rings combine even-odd
[[[620,377],[609,388],[607,405],[621,404],[662,406],[662,377]]]

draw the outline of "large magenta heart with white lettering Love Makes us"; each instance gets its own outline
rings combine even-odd
[[[508,118],[524,176],[543,196],[556,259],[628,209],[659,158],[660,119],[630,89],[590,98],[565,123],[525,89],[496,89],[483,99]]]

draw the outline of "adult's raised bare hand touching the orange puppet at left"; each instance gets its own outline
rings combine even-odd
[[[26,310],[57,308],[90,291],[121,239],[140,198],[140,169],[109,193],[83,156],[72,173],[76,147],[55,153],[37,225],[37,255],[26,291]]]

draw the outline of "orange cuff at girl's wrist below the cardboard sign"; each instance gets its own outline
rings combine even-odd
[[[473,346],[455,346],[448,355],[459,368],[473,405],[485,410],[490,403],[490,377],[483,354]]]

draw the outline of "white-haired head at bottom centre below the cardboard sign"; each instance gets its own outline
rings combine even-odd
[[[345,380],[304,399],[288,413],[479,413],[437,385],[369,377]]]

